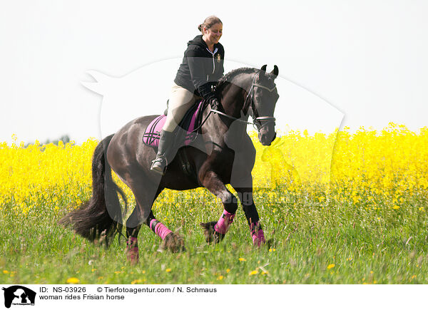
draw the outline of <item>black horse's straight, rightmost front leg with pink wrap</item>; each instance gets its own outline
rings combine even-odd
[[[233,185],[232,185],[233,186]],[[259,215],[253,200],[253,187],[233,187],[238,192],[238,197],[241,204],[245,217],[247,217],[248,225],[250,226],[250,234],[253,239],[253,244],[256,247],[260,247],[265,244],[265,234],[263,232],[262,225],[260,224]]]

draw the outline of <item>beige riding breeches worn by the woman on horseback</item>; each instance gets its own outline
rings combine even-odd
[[[188,109],[200,100],[202,100],[202,97],[173,83],[168,102],[168,115],[166,115],[163,130],[169,131],[170,133],[173,132],[175,128],[177,128],[178,123],[183,120]]]

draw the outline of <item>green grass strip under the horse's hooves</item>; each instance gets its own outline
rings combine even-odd
[[[255,195],[272,248],[253,247],[241,207],[223,242],[205,244],[199,223],[218,219],[223,206],[210,195],[195,195],[154,208],[171,230],[180,227],[187,251],[158,252],[161,239],[144,226],[135,267],[126,261],[123,238],[106,249],[58,225],[65,207],[37,205],[24,216],[13,205],[2,206],[0,283],[64,284],[70,277],[81,284],[428,283],[427,213],[419,210],[427,205],[425,198],[410,197],[399,210],[378,203],[374,210],[364,204],[322,205],[309,195],[290,199],[280,189],[275,194],[287,199]],[[250,275],[254,270],[258,273]]]

